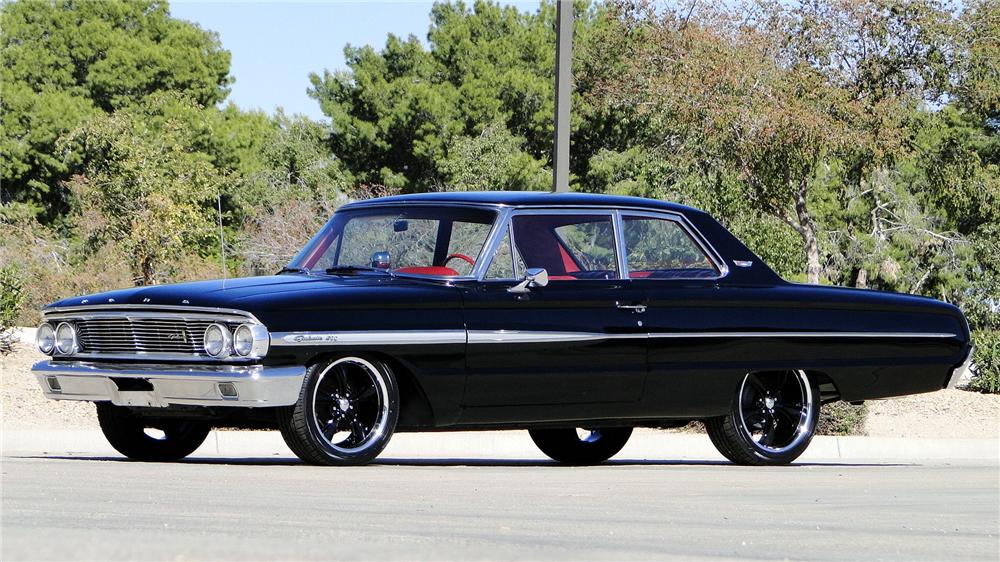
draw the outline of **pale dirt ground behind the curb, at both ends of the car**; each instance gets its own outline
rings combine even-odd
[[[0,358],[3,428],[97,429],[89,402],[47,400],[31,375],[43,359],[34,345],[20,344]],[[865,431],[875,437],[1000,438],[1000,395],[941,390],[868,402]]]

